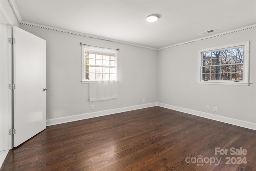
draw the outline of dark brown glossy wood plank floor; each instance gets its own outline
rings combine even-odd
[[[256,131],[149,107],[49,126],[10,150],[1,168],[46,170],[256,171]]]

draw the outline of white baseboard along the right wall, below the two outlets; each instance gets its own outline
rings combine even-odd
[[[183,107],[178,107],[178,106],[174,106],[174,105],[168,105],[168,104],[164,104],[164,103],[157,103],[157,105],[160,106],[160,107],[167,108],[167,109],[181,111],[181,112],[188,113],[188,114],[191,114],[191,115],[196,115],[196,116],[204,117],[204,118],[207,118],[207,119],[212,119],[212,120],[215,120],[215,121],[220,121],[220,122],[229,123],[229,124],[232,124],[232,125],[236,125],[236,126],[256,130],[256,123],[241,121],[241,120],[233,119],[233,118],[230,118],[230,117],[214,115],[214,114],[211,114],[211,113],[196,111],[196,110],[187,109],[187,108],[183,108]]]

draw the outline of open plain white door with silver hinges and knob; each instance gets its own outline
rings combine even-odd
[[[46,129],[46,41],[13,28],[14,147]]]

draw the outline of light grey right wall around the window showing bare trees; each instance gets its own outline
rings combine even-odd
[[[249,86],[197,84],[200,49],[250,41]],[[157,101],[256,123],[256,28],[158,51]],[[210,106],[210,111],[205,106]],[[218,112],[213,107],[218,107]],[[201,113],[202,115],[208,115]]]

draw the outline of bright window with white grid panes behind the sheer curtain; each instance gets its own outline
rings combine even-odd
[[[117,50],[82,46],[82,82],[117,80]]]

